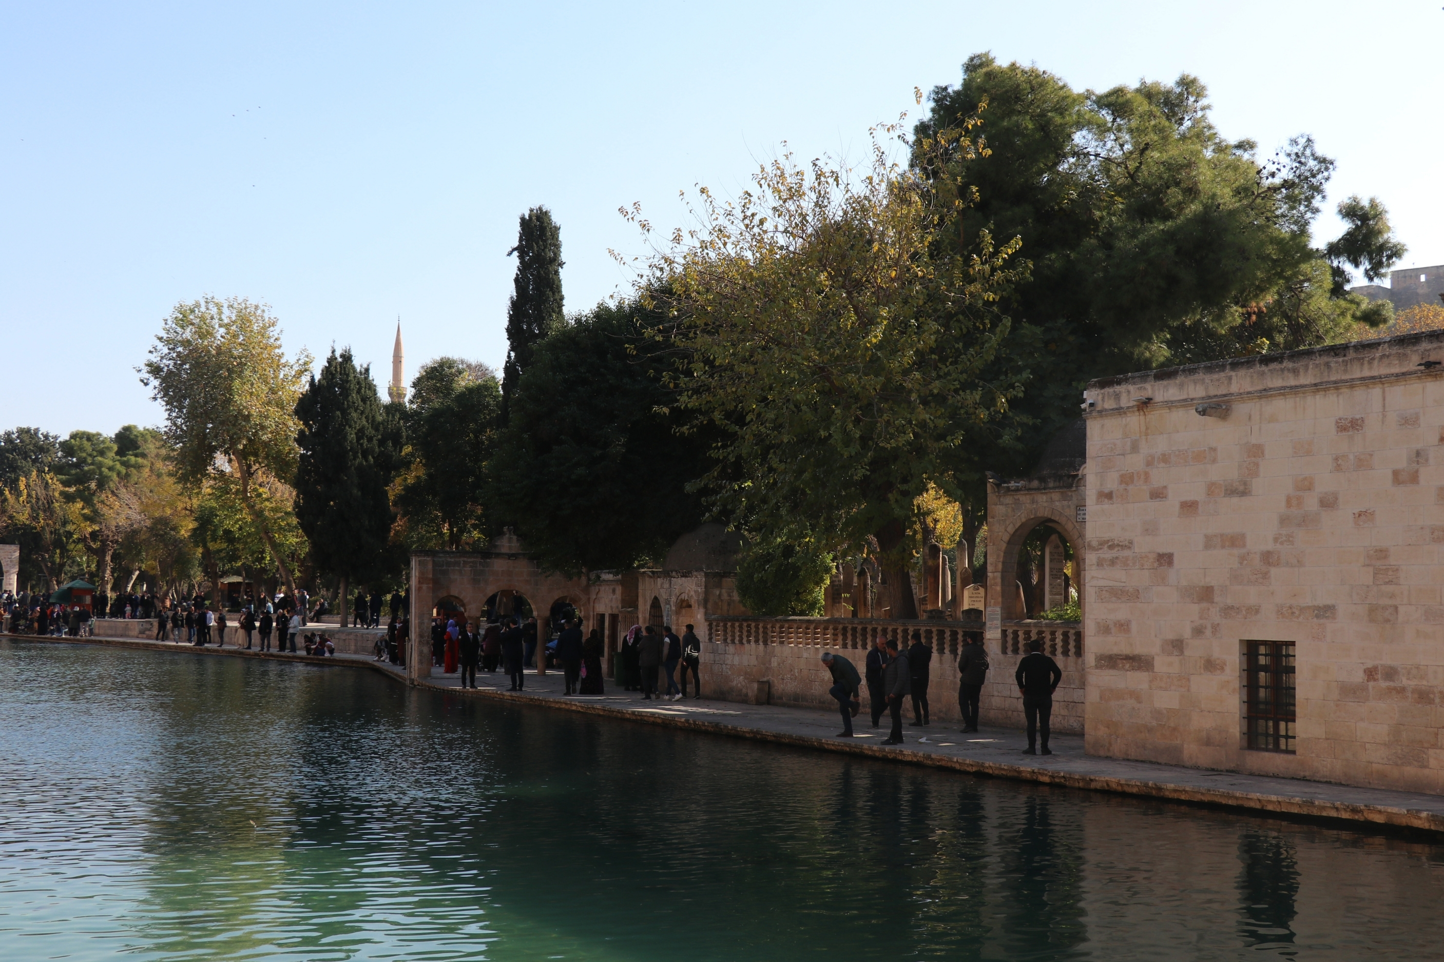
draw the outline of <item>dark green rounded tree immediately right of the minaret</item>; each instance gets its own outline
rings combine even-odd
[[[459,550],[485,537],[485,463],[500,414],[494,376],[478,378],[456,358],[417,372],[404,415],[406,469],[393,486],[409,547]]]

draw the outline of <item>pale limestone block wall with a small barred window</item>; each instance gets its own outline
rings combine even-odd
[[[1089,385],[1090,753],[1444,792],[1440,361],[1435,332]],[[1295,645],[1292,754],[1246,747],[1251,639]]]

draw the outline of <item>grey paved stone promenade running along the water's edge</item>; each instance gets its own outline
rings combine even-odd
[[[234,648],[192,648],[166,642],[105,637],[36,639],[26,636],[25,640],[97,643],[368,668],[406,684],[404,671],[361,655],[334,658],[261,655]],[[853,720],[855,734],[852,738],[838,738],[836,734],[842,725],[838,714],[832,711],[744,705],[693,698],[686,701],[643,701],[640,695],[618,689],[611,681],[606,682],[609,692],[606,695],[565,697],[560,694],[563,688],[560,672],[549,672],[544,676],[529,672],[523,692],[508,692],[508,679],[500,672],[495,675],[478,672],[477,685],[475,691],[462,689],[456,675],[443,675],[439,668],[432,669],[432,678],[422,682],[422,687],[445,691],[451,697],[505,700],[516,704],[611,715],[645,724],[692,728],[890,762],[947,767],[973,775],[1444,834],[1444,796],[1100,759],[1083,753],[1080,736],[1054,736],[1051,744],[1054,754],[1051,756],[1024,756],[1021,751],[1027,746],[1027,738],[1018,730],[983,728],[978,734],[962,734],[956,725],[933,724],[927,728],[905,727],[904,744],[884,746],[879,743],[887,737],[887,728],[872,728],[865,712]],[[910,715],[911,711],[904,711],[904,718]],[[884,718],[884,725],[887,724]]]

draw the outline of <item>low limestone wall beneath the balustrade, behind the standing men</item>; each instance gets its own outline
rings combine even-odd
[[[771,704],[796,708],[836,708],[827,689],[832,675],[822,663],[822,653],[829,650],[817,645],[723,645],[703,642],[702,645],[702,689],[708,698],[749,702],[755,682],[771,682]],[[866,652],[862,649],[830,649],[843,655],[864,674]],[[1014,682],[1018,668],[1017,655],[989,652],[988,684],[979,700],[979,714],[983,724],[1021,728],[1024,725],[1022,700]],[[1053,695],[1053,730],[1083,731],[1083,674],[1082,659],[1056,659],[1063,669],[1063,684]],[[928,681],[928,710],[934,720],[960,724],[957,710],[957,656],[933,653]],[[864,714],[866,712],[866,685],[864,684]],[[904,707],[904,717],[913,717],[911,701]],[[861,715],[859,715],[861,717]]]

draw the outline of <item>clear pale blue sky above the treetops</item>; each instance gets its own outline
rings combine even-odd
[[[1310,133],[1337,200],[1388,206],[1444,262],[1444,42],[1431,3],[0,3],[0,428],[159,425],[163,319],[270,304],[284,343],[351,346],[378,385],[500,368],[517,218],[562,228],[569,312],[625,293],[612,257],[679,192],[747,186],[787,143],[862,160],[991,50],[1074,88],[1201,78],[1229,138]]]

